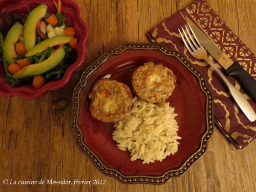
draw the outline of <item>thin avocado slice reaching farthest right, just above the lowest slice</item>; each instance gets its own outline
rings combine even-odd
[[[56,36],[46,39],[44,41],[39,42],[39,44],[30,49],[25,56],[30,57],[32,55],[45,51],[48,47],[53,47],[60,44],[67,44],[67,42],[69,42],[71,39],[71,36]]]

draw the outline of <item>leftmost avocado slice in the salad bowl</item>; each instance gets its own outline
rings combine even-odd
[[[16,22],[6,35],[4,45],[3,45],[3,51],[4,51],[5,58],[9,64],[12,62],[15,62],[14,58],[17,57],[16,51],[15,51],[15,44],[18,41],[19,36],[22,34],[22,31],[23,31],[23,25]]]

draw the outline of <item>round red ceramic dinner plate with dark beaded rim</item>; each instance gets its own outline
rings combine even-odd
[[[88,96],[101,78],[115,79],[131,86],[131,77],[138,66],[153,60],[173,70],[177,86],[167,99],[178,113],[179,150],[162,162],[142,164],[131,161],[130,152],[121,151],[112,139],[113,123],[93,118]],[[134,96],[134,94],[133,94]],[[86,69],[74,89],[72,128],[80,150],[108,176],[123,183],[160,184],[183,175],[204,153],[213,131],[212,99],[200,72],[178,52],[158,44],[125,44],[104,53]]]

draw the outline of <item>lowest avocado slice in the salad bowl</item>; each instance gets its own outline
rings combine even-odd
[[[55,66],[58,65],[60,61],[65,56],[65,50],[63,48],[59,48],[56,51],[54,51],[50,57],[40,63],[35,63],[30,66],[24,67],[21,70],[19,70],[17,73],[13,74],[14,78],[26,78],[29,76],[39,75],[42,73],[45,73]]]

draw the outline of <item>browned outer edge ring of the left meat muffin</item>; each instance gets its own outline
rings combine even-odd
[[[93,113],[93,110],[94,110],[95,108],[94,108],[94,106],[92,105],[93,98],[91,98],[91,95],[92,95],[92,93],[94,92],[94,88],[95,88],[96,86],[98,86],[98,84],[99,84],[100,82],[105,81],[105,80],[109,80],[109,81],[114,81],[114,82],[121,83],[122,86],[123,86],[123,88],[124,88],[125,91],[127,92],[128,96],[129,96],[129,98],[130,98],[130,100],[131,100],[131,103],[130,103],[129,108],[126,108],[126,109],[127,109],[126,113],[125,113],[125,114],[122,114],[122,116],[120,116],[118,119],[115,119],[115,120],[113,120],[113,119],[111,119],[111,120],[109,120],[109,119],[106,120],[106,118],[98,119],[97,117],[95,117],[95,115],[94,115],[94,113]],[[115,122],[115,121],[119,121],[119,120],[123,119],[124,117],[126,117],[126,116],[129,114],[129,112],[130,112],[130,110],[131,110],[131,108],[132,108],[133,96],[132,96],[132,93],[131,93],[130,88],[127,86],[127,84],[122,83],[122,82],[119,82],[119,81],[117,81],[117,80],[99,79],[99,80],[94,84],[93,89],[92,89],[92,92],[91,92],[90,95],[89,95],[89,98],[90,98],[90,100],[91,100],[90,109],[89,109],[90,112],[91,112],[91,115],[92,115],[94,118],[96,118],[96,119],[98,119],[98,120],[100,120],[100,121],[102,121],[102,122],[106,122],[106,123],[111,123],[111,122]],[[127,99],[128,99],[128,98],[127,98]]]

